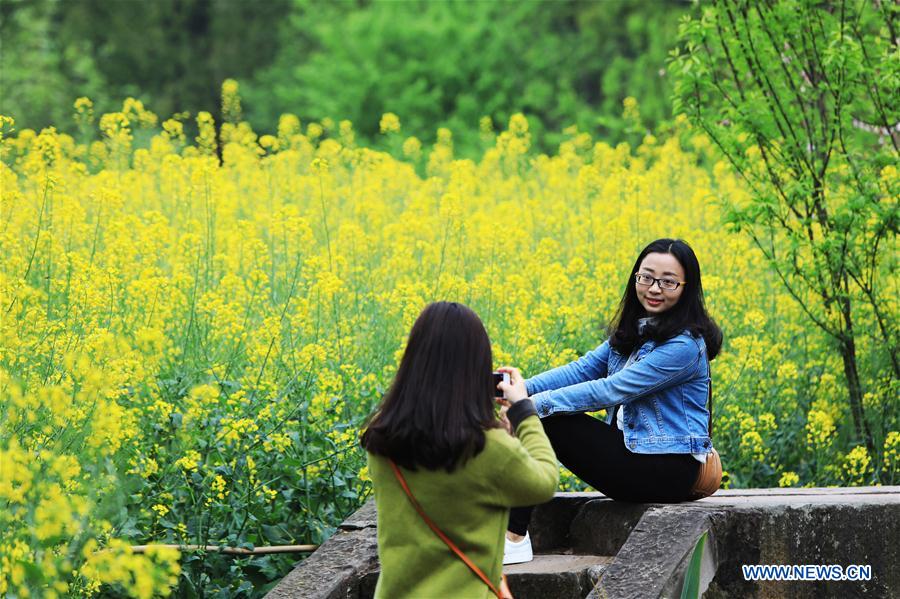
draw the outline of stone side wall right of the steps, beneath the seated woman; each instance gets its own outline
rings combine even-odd
[[[708,599],[900,596],[900,551],[893,540],[900,538],[900,487],[894,486],[738,489],[690,503],[651,504],[591,597],[680,596],[685,567],[704,531],[709,538],[701,590]],[[749,582],[743,564],[868,564],[873,578]]]

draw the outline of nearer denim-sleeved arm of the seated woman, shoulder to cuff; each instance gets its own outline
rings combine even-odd
[[[702,359],[697,342],[687,335],[679,335],[613,375],[538,393],[532,399],[541,418],[557,413],[602,410],[690,380]]]

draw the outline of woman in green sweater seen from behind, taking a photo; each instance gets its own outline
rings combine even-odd
[[[509,508],[553,496],[559,469],[534,404],[509,401],[510,435],[494,412],[492,373],[472,310],[436,302],[422,311],[362,434],[378,512],[376,597],[495,596]],[[512,375],[497,388],[521,383]]]

